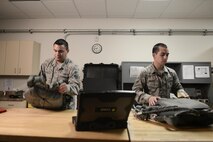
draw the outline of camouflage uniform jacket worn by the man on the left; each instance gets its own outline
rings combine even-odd
[[[78,67],[68,58],[57,65],[54,58],[45,60],[41,65],[40,75],[48,85],[55,82],[65,82],[70,87],[68,95],[77,95],[80,90],[80,75]]]

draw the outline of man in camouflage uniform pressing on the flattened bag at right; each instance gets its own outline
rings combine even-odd
[[[179,82],[176,72],[165,66],[169,51],[163,43],[158,43],[152,50],[154,61],[142,70],[132,87],[136,92],[136,102],[155,105],[160,98],[189,97]]]

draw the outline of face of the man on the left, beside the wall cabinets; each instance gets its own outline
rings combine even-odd
[[[67,57],[67,49],[66,47],[64,47],[64,45],[57,45],[57,44],[54,44],[53,45],[53,52],[54,52],[54,56],[55,56],[55,59],[57,62],[64,62],[64,60],[66,59]]]

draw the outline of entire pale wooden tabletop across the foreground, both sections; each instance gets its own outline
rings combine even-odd
[[[6,142],[98,142],[129,141],[127,129],[78,132],[72,124],[76,111],[48,111],[36,108],[11,108],[0,113],[0,141]],[[213,126],[177,129],[162,123],[141,121],[130,114],[130,140],[133,142],[213,141]]]

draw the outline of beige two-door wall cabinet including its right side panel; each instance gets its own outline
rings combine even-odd
[[[34,41],[6,41],[2,75],[36,75],[40,66],[40,44]]]

